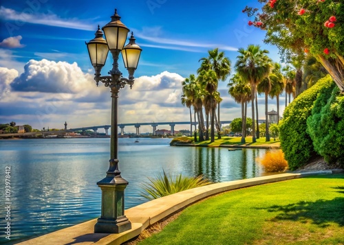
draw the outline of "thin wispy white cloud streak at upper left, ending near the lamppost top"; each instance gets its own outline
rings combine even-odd
[[[21,21],[24,23],[33,23],[39,25],[50,25],[77,30],[94,30],[92,25],[79,21],[78,19],[62,19],[56,14],[41,14],[39,12],[27,11],[17,12],[10,8],[1,6],[0,18],[7,21]]]

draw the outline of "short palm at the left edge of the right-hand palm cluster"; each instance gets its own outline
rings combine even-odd
[[[250,101],[251,89],[246,82],[244,82],[238,74],[233,75],[230,78],[227,86],[229,87],[228,93],[233,97],[235,102],[241,104],[241,143],[246,143],[246,113],[247,113],[247,102]]]

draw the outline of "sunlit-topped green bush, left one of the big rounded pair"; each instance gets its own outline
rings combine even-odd
[[[332,91],[334,86],[332,78],[327,75],[310,89],[301,93],[284,110],[283,119],[279,124],[279,138],[290,170],[296,170],[308,163],[312,156],[317,155],[312,139],[307,132],[307,119],[312,114],[318,94]]]

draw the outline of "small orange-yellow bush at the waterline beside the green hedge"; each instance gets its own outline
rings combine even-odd
[[[258,163],[263,165],[265,172],[283,172],[288,167],[282,150],[272,150],[264,156],[257,158]]]

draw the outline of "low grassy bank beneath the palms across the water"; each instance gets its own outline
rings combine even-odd
[[[222,139],[215,139],[213,143],[210,140],[202,141],[202,142],[194,142],[193,137],[177,137],[171,141],[171,144],[175,143],[192,143],[193,145],[209,145],[209,146],[219,146],[219,145],[252,145],[252,146],[259,146],[259,145],[276,145],[279,146],[279,140],[266,142],[265,137],[261,137],[257,139],[257,142],[252,143],[252,137],[245,138],[246,143],[241,143],[241,137],[222,137]]]

